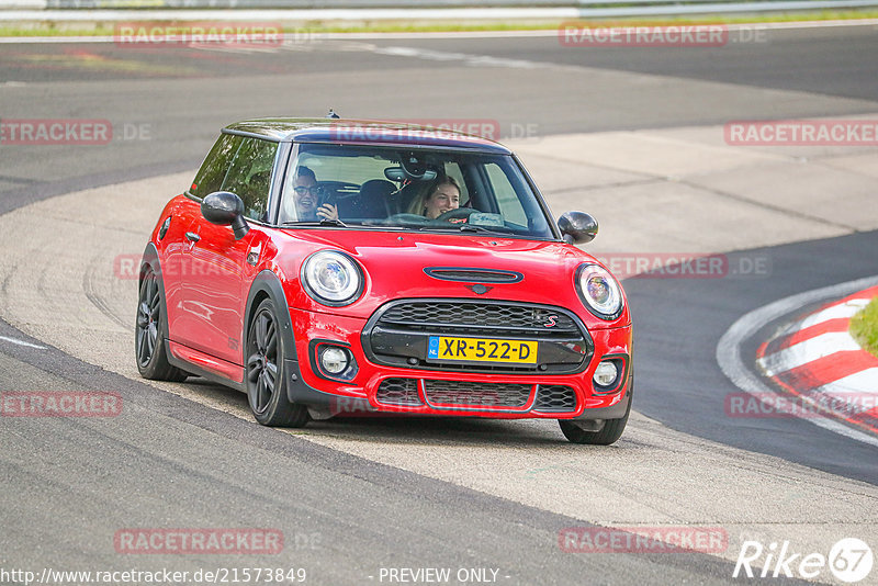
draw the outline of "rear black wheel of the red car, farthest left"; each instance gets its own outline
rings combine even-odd
[[[137,322],[134,328],[134,358],[137,371],[150,381],[182,382],[189,374],[168,362],[162,308],[161,282],[153,267],[146,266],[137,296]]]

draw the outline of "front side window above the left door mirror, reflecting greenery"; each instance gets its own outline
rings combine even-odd
[[[268,219],[268,194],[278,144],[259,138],[244,138],[223,181],[223,191],[235,193],[244,202],[244,215]]]

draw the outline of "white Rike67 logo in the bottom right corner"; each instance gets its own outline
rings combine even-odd
[[[856,538],[838,540],[829,555],[798,552],[789,541],[772,542],[767,548],[758,541],[744,541],[732,577],[814,579],[829,567],[836,579],[853,584],[869,575],[873,562],[869,545]]]

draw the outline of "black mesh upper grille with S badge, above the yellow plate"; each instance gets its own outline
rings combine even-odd
[[[389,308],[380,325],[409,328],[475,327],[521,334],[579,334],[576,323],[551,307],[465,302],[409,302]]]

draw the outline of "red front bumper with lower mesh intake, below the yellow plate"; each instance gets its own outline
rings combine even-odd
[[[375,363],[362,343],[365,319],[296,308],[290,309],[290,316],[295,357],[283,369],[289,398],[328,415],[615,419],[624,415],[630,401],[631,326],[588,331],[593,352],[578,372],[466,372]],[[350,352],[357,362],[350,380],[333,380],[320,372],[315,340]],[[605,357],[623,365],[609,390],[593,383]]]

